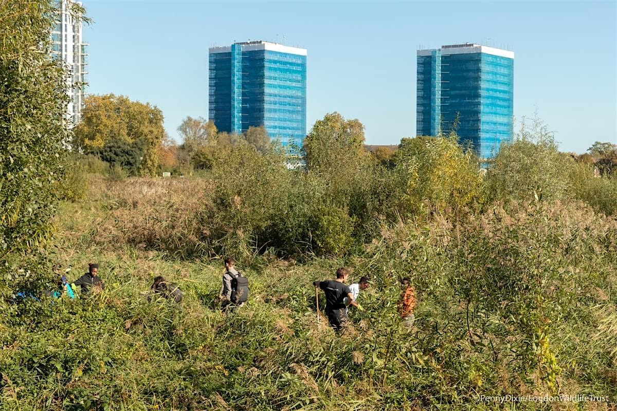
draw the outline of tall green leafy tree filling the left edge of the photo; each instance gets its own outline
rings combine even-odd
[[[72,11],[83,15],[80,6]],[[0,0],[0,301],[9,288],[44,283],[35,273],[44,271],[39,251],[52,231],[69,136],[68,73],[51,59],[58,18],[48,0]]]

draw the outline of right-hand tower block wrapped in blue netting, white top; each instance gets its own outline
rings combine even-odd
[[[478,44],[418,51],[416,134],[457,131],[481,158],[511,141],[514,53]]]

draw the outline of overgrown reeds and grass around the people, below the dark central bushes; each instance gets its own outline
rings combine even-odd
[[[2,330],[2,410],[610,409],[617,404],[617,222],[585,206],[496,207],[383,228],[346,260],[239,261],[250,301],[224,315],[222,261],[199,240],[205,179],[91,176],[62,203],[51,258],[69,279],[100,264],[104,293],[27,302]],[[207,250],[205,250],[207,251]],[[318,320],[315,279],[369,275],[342,336]],[[180,285],[181,309],[148,301]],[[415,327],[395,312],[418,291]],[[323,310],[323,298],[320,298]],[[36,315],[32,313],[36,311]],[[35,318],[24,323],[20,318]],[[585,402],[487,402],[586,394]],[[484,397],[481,397],[484,396]]]

